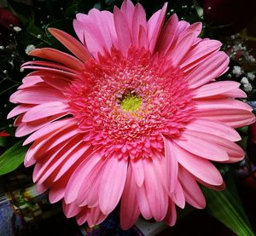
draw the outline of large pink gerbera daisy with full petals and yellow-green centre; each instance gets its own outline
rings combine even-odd
[[[79,224],[102,222],[120,201],[124,229],[140,214],[172,226],[175,205],[205,207],[197,182],[224,187],[211,161],[244,157],[234,128],[255,118],[235,100],[246,97],[239,83],[215,81],[229,64],[221,43],[199,38],[201,23],[165,17],[166,4],[147,21],[130,0],[113,14],[77,14],[82,43],[49,29],[74,56],[35,49],[47,61],[22,66],[36,72],[11,96],[9,118],[32,142],[25,165]]]

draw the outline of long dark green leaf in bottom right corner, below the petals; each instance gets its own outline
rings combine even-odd
[[[237,235],[255,235],[239,199],[233,176],[224,191],[203,188],[207,198],[207,213],[224,223]]]

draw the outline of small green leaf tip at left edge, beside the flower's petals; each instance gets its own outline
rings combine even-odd
[[[17,169],[23,162],[27,147],[22,147],[21,143],[15,143],[0,156],[0,176]]]

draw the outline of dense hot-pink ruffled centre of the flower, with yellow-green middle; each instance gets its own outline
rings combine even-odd
[[[67,96],[84,141],[103,147],[105,157],[161,155],[161,135],[179,136],[193,117],[183,71],[146,49],[112,49],[85,62]]]

